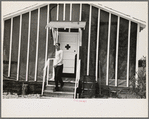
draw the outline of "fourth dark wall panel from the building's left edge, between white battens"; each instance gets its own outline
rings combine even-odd
[[[36,58],[36,37],[37,37],[37,16],[38,10],[31,12],[31,36],[30,36],[30,54],[29,54],[29,80],[34,80],[35,58]]]

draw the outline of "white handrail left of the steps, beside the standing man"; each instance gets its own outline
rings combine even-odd
[[[54,58],[48,58],[48,60],[45,62],[45,66],[43,68],[43,81],[42,81],[42,91],[41,91],[41,95],[43,95],[43,91],[44,91],[44,83],[45,83],[45,78],[46,78],[46,71],[47,71],[47,84],[48,84],[48,78],[49,78],[49,61],[50,60],[54,60]],[[48,69],[47,69],[48,68]],[[47,70],[46,70],[47,69]]]

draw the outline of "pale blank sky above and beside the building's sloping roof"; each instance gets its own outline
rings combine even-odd
[[[16,12],[23,8],[40,4],[43,2],[14,2],[14,1],[6,1],[2,2],[2,15],[7,15],[12,12]],[[148,2],[95,2],[102,4],[103,6],[110,7],[112,9],[118,10],[125,14],[128,14],[137,19],[143,20],[146,22],[146,28],[141,31],[139,38],[139,52],[138,59],[142,58],[142,56],[147,56],[147,33],[148,33]]]

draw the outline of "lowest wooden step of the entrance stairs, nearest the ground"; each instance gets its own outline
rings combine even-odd
[[[52,90],[44,90],[43,93],[44,96],[49,97],[58,97],[58,98],[73,98],[74,93],[73,92],[63,92],[63,91],[55,91]]]

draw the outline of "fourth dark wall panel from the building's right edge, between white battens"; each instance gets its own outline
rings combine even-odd
[[[108,44],[108,24],[109,13],[101,10],[100,12],[100,31],[99,31],[99,56],[100,61],[100,77],[102,83],[106,83],[106,67],[107,67],[107,44]],[[99,67],[99,66],[98,66]],[[98,72],[99,73],[99,72]]]

